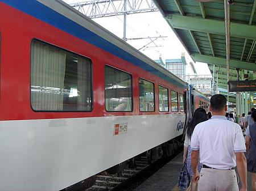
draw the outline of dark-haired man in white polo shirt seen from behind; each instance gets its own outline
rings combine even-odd
[[[247,191],[245,139],[240,125],[228,121],[226,97],[220,94],[210,99],[212,118],[195,127],[191,138],[192,169],[194,182],[199,181],[198,191],[238,191],[234,167],[237,165],[242,183]],[[197,172],[200,151],[201,173]]]

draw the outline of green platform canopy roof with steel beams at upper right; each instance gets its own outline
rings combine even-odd
[[[154,0],[196,62],[208,63],[218,87],[227,88],[224,0]],[[230,5],[230,80],[256,79],[256,0]],[[213,69],[213,65],[215,65]]]

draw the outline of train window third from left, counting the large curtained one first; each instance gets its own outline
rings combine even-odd
[[[141,112],[155,111],[154,83],[139,78],[139,110]]]

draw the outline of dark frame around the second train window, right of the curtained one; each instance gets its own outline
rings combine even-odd
[[[105,86],[106,86],[106,73],[105,73],[105,69],[106,67],[109,67],[109,68],[112,68],[114,70],[118,70],[118,71],[121,71],[123,73],[126,73],[126,74],[129,74],[130,75],[130,79],[131,79],[131,111],[109,111],[107,110],[106,108],[106,89],[105,89]],[[118,69],[117,67],[113,67],[111,65],[105,65],[104,66],[104,101],[105,101],[105,111],[108,112],[108,113],[130,113],[130,112],[133,112],[133,109],[134,109],[134,102],[133,102],[133,75],[127,71],[124,71],[124,70],[121,70],[121,69]]]

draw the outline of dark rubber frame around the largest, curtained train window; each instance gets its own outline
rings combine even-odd
[[[89,60],[90,62],[90,70],[89,70],[89,73],[90,73],[90,88],[88,88],[88,90],[90,90],[90,109],[89,110],[77,110],[77,111],[71,111],[71,110],[65,110],[65,111],[60,111],[60,110],[37,110],[37,109],[34,109],[33,106],[32,106],[32,94],[31,94],[31,86],[32,86],[32,44],[34,41],[37,41],[39,43],[42,43],[42,44],[46,44],[46,45],[49,45],[49,46],[52,46],[53,48],[56,48],[56,49],[59,49],[59,50],[63,50],[65,52],[68,52],[68,53],[71,53],[71,54],[75,54],[76,56],[79,56],[79,57],[82,57],[82,58],[86,58],[86,60]],[[71,50],[68,50],[68,49],[65,49],[59,45],[56,45],[56,44],[53,44],[53,43],[49,43],[48,41],[44,41],[44,40],[41,40],[41,39],[38,39],[38,38],[33,38],[31,39],[31,42],[30,42],[30,107],[32,109],[32,111],[34,112],[46,112],[46,113],[52,113],[52,112],[55,112],[55,113],[88,113],[88,112],[92,112],[93,111],[93,62],[92,62],[92,59],[88,56],[84,56],[83,54],[80,54],[80,53],[77,53],[77,52],[73,52]]]

